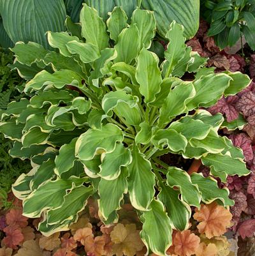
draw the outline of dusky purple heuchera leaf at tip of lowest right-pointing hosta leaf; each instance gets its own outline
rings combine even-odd
[[[247,207],[246,195],[243,192],[231,191],[230,198],[235,200],[235,205],[230,208],[233,216],[239,217]]]

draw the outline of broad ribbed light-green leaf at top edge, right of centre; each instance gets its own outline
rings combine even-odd
[[[184,26],[186,38],[192,38],[198,31],[199,0],[143,0],[142,7],[154,11],[157,31],[161,36],[166,36],[173,20]]]

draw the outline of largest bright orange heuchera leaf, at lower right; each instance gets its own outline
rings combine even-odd
[[[232,215],[230,211],[223,206],[219,206],[216,202],[212,204],[203,204],[201,209],[196,209],[194,219],[200,222],[198,231],[205,234],[208,238],[221,236],[226,232],[226,227],[231,226]]]

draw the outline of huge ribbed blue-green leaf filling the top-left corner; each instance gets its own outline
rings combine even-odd
[[[11,40],[34,41],[48,48],[47,31],[64,31],[66,8],[62,0],[1,0],[4,28]]]

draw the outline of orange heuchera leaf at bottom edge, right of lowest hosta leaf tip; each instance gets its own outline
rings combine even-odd
[[[200,237],[191,234],[191,230],[177,232],[173,237],[173,246],[175,246],[175,254],[180,256],[193,255],[200,244]]]

